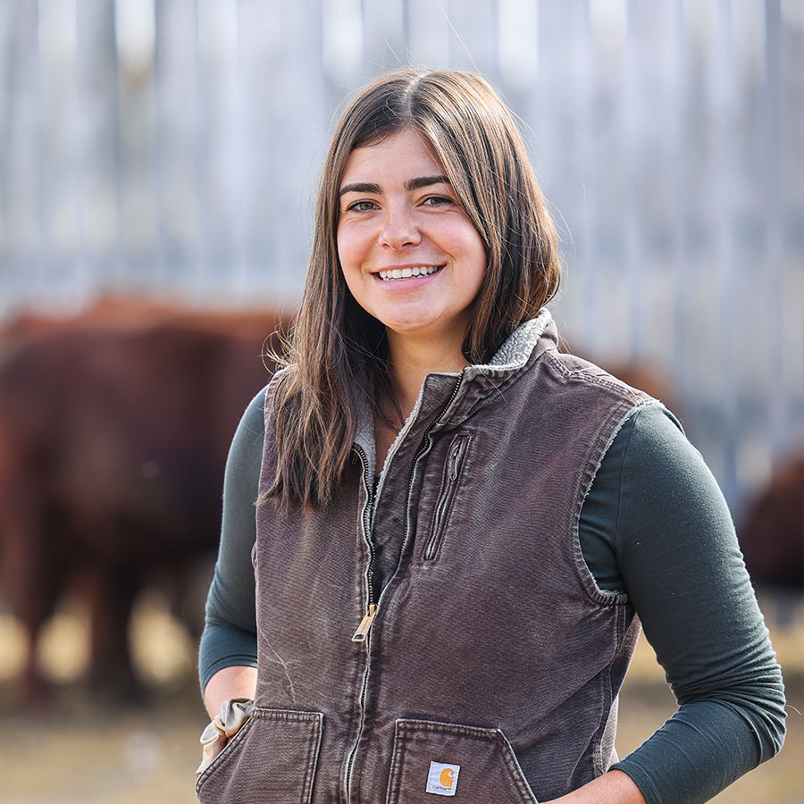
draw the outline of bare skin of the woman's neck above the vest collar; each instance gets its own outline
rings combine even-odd
[[[388,331],[391,395],[403,421],[413,410],[424,378],[432,372],[460,372],[466,365],[463,339],[415,339]]]

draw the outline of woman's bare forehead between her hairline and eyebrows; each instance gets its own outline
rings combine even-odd
[[[395,179],[444,173],[435,149],[421,131],[394,131],[376,142],[355,148],[349,155],[340,186],[358,180],[382,183]]]

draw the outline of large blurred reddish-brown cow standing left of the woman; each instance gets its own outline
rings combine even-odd
[[[231,435],[289,325],[114,307],[17,325],[0,362],[0,594],[29,633],[29,699],[42,691],[38,633],[76,582],[93,682],[136,688],[133,600],[148,578],[181,582],[214,557]]]

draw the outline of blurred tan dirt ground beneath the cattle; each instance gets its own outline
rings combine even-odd
[[[804,804],[804,606],[773,636],[788,687],[787,742],[777,758],[717,796],[718,804]],[[29,715],[16,705],[11,683],[21,633],[0,616],[0,804],[192,804],[197,738],[206,717],[186,634],[160,599],[141,601],[132,642],[150,695],[138,708],[90,702],[76,681],[85,641],[80,609],[67,607],[40,653],[58,689],[49,708]],[[653,652],[641,641],[621,696],[620,755],[673,709]]]

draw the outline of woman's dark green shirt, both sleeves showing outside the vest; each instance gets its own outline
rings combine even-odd
[[[222,540],[199,673],[256,666],[254,501],[264,390],[232,442]],[[624,590],[679,708],[615,767],[649,804],[716,795],[775,755],[784,736],[781,670],[716,481],[674,421],[641,408],[617,433],[583,503],[582,554],[601,589]]]

